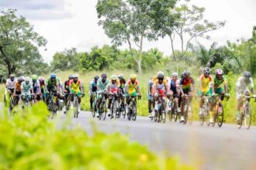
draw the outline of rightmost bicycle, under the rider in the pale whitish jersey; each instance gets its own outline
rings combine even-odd
[[[254,98],[254,102],[256,102],[256,98],[255,97],[247,97],[247,96],[243,96],[243,98],[245,99],[245,103],[243,106],[243,111],[242,114],[240,114],[240,124],[237,124],[237,128],[241,128],[243,121],[244,121],[244,126],[249,129],[251,127],[251,105],[249,103],[251,98]]]

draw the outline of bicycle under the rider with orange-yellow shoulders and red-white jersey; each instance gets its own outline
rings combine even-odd
[[[165,107],[166,107],[166,102],[164,100],[164,97],[158,96],[156,103],[154,104],[154,110],[155,110],[154,121],[157,121],[158,123],[163,121],[163,123],[165,123],[166,121]]]

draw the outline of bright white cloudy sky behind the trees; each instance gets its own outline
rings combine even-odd
[[[47,51],[40,49],[43,59],[50,63],[54,53],[74,47],[79,52],[90,51],[92,46],[111,44],[95,10],[97,0],[0,0],[0,8],[16,8],[34,26],[34,30],[47,39]],[[191,4],[205,7],[205,19],[226,21],[222,29],[210,32],[211,39],[198,39],[205,46],[217,42],[219,46],[227,40],[251,37],[256,26],[255,0],[192,0]],[[179,42],[175,43],[178,48]],[[127,44],[121,46],[127,48]],[[171,43],[167,38],[157,42],[145,42],[144,50],[160,49],[171,54]]]

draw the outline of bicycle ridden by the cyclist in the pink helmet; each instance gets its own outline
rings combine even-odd
[[[214,127],[216,122],[218,124],[218,126],[221,128],[222,124],[223,124],[223,120],[224,120],[224,107],[222,104],[222,101],[220,100],[220,97],[227,97],[227,100],[230,99],[230,96],[228,95],[216,95],[216,101],[214,104],[214,115],[213,115],[213,124],[212,126]]]

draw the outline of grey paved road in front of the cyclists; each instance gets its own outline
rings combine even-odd
[[[159,124],[148,117],[137,117],[137,121],[108,117],[99,121],[88,112],[81,112],[72,123],[92,133],[92,120],[100,131],[128,134],[131,140],[148,145],[152,151],[178,155],[182,162],[199,169],[256,169],[256,127],[238,130],[234,124],[223,124],[222,128],[201,127],[199,122]]]

